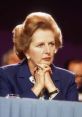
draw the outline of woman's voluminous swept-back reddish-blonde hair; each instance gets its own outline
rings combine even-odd
[[[24,52],[29,48],[32,35],[39,28],[52,30],[57,50],[62,47],[61,30],[53,17],[48,13],[33,12],[25,18],[22,24],[13,29],[13,42],[20,59],[25,58]]]

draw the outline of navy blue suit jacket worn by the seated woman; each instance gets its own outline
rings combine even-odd
[[[60,90],[56,100],[78,99],[74,75],[67,70],[51,65],[52,80]],[[32,91],[33,83],[29,80],[31,73],[26,60],[16,65],[0,68],[0,96],[19,94],[20,97],[38,98]],[[47,92],[45,98],[48,99]]]

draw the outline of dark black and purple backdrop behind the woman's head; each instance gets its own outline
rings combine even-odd
[[[26,15],[35,11],[50,13],[63,33],[63,48],[55,64],[64,67],[70,58],[82,59],[82,2],[81,0],[21,0],[0,1],[0,61],[12,47],[12,30]],[[0,63],[1,64],[1,63]]]

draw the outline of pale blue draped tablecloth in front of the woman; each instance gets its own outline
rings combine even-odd
[[[0,98],[0,117],[82,117],[82,102]]]

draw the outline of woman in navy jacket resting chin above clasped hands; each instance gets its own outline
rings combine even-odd
[[[29,14],[13,30],[16,54],[23,61],[0,68],[0,96],[77,100],[74,75],[53,65],[62,34],[51,15]]]

